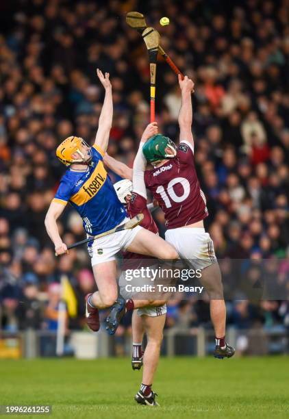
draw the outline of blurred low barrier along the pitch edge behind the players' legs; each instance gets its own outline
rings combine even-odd
[[[289,330],[272,329],[227,330],[227,340],[235,346],[237,353],[244,355],[266,355],[289,353]],[[4,357],[55,357],[56,333],[54,331],[23,332],[0,331],[0,359]],[[3,344],[4,342],[4,344]],[[7,343],[5,345],[5,342]],[[246,346],[247,345],[247,346]],[[105,331],[71,331],[66,336],[64,355],[78,359],[95,359],[117,355],[131,355],[131,335],[109,336]],[[5,351],[1,350],[5,348]],[[14,349],[9,351],[9,349]],[[18,351],[15,351],[18,348]],[[214,350],[214,331],[211,329],[166,329],[162,344],[162,355],[189,355],[203,357]],[[1,355],[2,354],[2,355]],[[18,354],[18,355],[17,355]],[[3,356],[4,355],[4,356]],[[10,356],[11,355],[11,356]]]

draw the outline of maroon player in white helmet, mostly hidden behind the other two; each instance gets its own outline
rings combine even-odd
[[[145,132],[155,132],[155,124],[148,125]],[[144,133],[145,134],[145,133]],[[105,165],[114,170],[114,173],[125,177],[121,181],[114,183],[114,189],[118,199],[125,204],[129,218],[136,216],[136,214],[143,214],[144,218],[140,224],[143,228],[158,234],[158,227],[151,216],[154,205],[147,205],[147,199],[132,191],[132,169],[125,164],[118,162],[110,155],[106,154],[104,157]],[[138,255],[126,251],[123,253],[124,265],[123,272],[126,269],[135,269],[139,266],[149,266],[154,264],[154,260],[147,256]],[[146,264],[147,259],[147,264]],[[127,297],[126,307],[128,309],[138,307],[138,300],[132,300],[133,295],[129,295],[125,291],[127,281],[122,275],[119,280],[120,294]],[[162,331],[166,320],[166,304],[164,301],[148,301],[148,307],[143,307],[144,301],[140,301],[142,308],[134,310],[132,314],[132,357],[131,366],[134,370],[140,370],[143,364],[142,383],[140,390],[135,396],[135,399],[140,404],[158,405],[155,401],[155,393],[151,390],[155,370],[158,366],[160,357],[160,346],[162,344]],[[133,304],[133,306],[131,306]],[[147,346],[145,352],[142,352],[143,335],[147,335]]]

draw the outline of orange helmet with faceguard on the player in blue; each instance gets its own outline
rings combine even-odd
[[[88,157],[81,151],[82,147],[86,147]],[[91,160],[91,147],[83,138],[71,136],[66,138],[56,149],[56,155],[60,162],[66,166],[71,164],[88,164]],[[74,155],[74,156],[73,156]],[[79,157],[75,157],[78,155]]]

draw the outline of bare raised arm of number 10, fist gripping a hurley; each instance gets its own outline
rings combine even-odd
[[[194,147],[192,138],[192,91],[194,83],[188,76],[181,79],[179,75],[179,87],[181,88],[181,109],[179,111],[179,142],[188,141]]]

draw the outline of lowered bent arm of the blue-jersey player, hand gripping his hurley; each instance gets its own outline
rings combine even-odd
[[[62,255],[62,253],[67,253],[67,246],[60,237],[58,231],[58,225],[56,221],[64,211],[65,205],[61,203],[51,202],[49,210],[47,211],[45,217],[45,227],[48,233],[48,236],[53,241],[55,246],[56,255]]]

